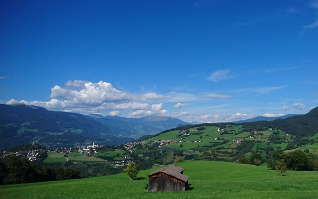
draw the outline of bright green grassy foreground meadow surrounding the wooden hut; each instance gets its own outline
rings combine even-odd
[[[126,174],[79,180],[0,186],[1,199],[207,199],[207,198],[317,198],[318,172],[277,171],[253,165],[212,161],[177,164],[190,177],[189,191],[148,193],[147,174],[140,171],[138,181]],[[157,168],[158,169],[158,168]]]

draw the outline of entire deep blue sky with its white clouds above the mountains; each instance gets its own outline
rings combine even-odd
[[[0,1],[0,102],[203,122],[318,106],[318,1]]]

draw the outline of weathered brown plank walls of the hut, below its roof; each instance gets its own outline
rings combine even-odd
[[[172,176],[159,173],[149,177],[149,192],[185,191],[187,183]]]

